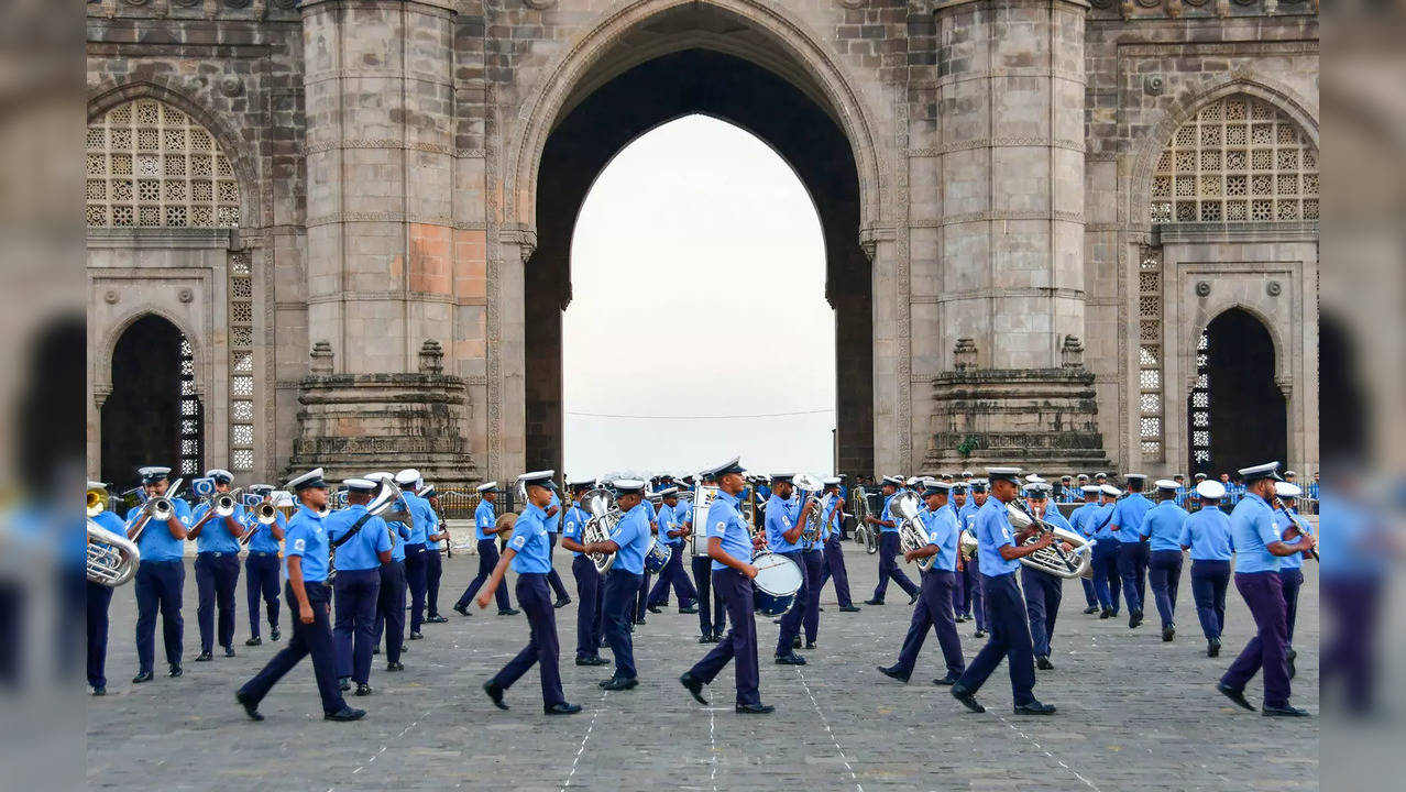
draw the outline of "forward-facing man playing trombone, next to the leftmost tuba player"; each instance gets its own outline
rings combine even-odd
[[[132,684],[152,679],[152,663],[156,654],[156,612],[162,615],[162,640],[166,646],[166,663],[170,677],[181,675],[181,633],[184,622],[180,616],[181,588],[186,585],[184,554],[186,529],[190,528],[190,506],[186,501],[173,499],[172,513],[166,522],[150,519],[150,505],[155,498],[163,498],[170,487],[169,467],[143,467],[138,470],[146,505],[127,512],[127,537],[136,542],[142,554],[136,567],[136,677]]]

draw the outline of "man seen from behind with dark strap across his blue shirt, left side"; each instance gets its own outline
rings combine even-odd
[[[337,619],[332,632],[337,650],[337,678],[343,691],[356,682],[356,695],[371,695],[371,649],[375,646],[375,603],[381,595],[381,566],[391,563],[391,533],[385,520],[367,512],[380,487],[368,478],[347,478],[347,506],[322,520],[335,553],[332,581]]]

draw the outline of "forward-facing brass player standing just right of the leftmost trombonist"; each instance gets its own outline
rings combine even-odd
[[[229,492],[235,474],[228,470],[207,470],[205,478],[215,480],[215,494]],[[219,605],[219,646],[225,657],[235,656],[235,591],[239,588],[239,537],[245,535],[245,508],[235,504],[229,516],[215,513],[211,501],[204,501],[191,512],[194,525],[186,537],[195,542],[195,622],[200,625],[200,654],[195,663],[208,663],[215,639],[215,605]]]

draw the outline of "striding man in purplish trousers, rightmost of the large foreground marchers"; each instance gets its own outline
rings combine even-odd
[[[1284,584],[1279,578],[1279,558],[1315,547],[1313,536],[1305,533],[1298,542],[1284,540],[1274,519],[1274,483],[1279,480],[1279,463],[1271,461],[1240,470],[1244,497],[1230,512],[1230,540],[1236,550],[1234,585],[1254,616],[1256,636],[1250,639],[1234,663],[1216,685],[1226,698],[1253,710],[1244,698],[1244,686],[1264,668],[1264,703],[1261,712],[1271,716],[1302,717],[1308,712],[1289,705],[1288,634],[1284,616]]]

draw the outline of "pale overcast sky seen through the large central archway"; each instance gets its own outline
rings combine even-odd
[[[763,473],[832,471],[820,219],[766,143],[702,115],[641,136],[586,196],[571,256],[568,474],[735,454]],[[738,415],[766,418],[711,418]]]

